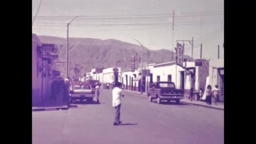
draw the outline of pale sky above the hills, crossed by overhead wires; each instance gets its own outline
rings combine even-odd
[[[41,0],[32,0],[32,21]],[[174,23],[173,23],[174,11]],[[194,40],[193,58],[224,58],[224,0],[42,0],[32,33],[56,37],[116,39],[151,50],[173,50]],[[173,26],[174,24],[174,26]],[[174,28],[174,29],[172,29]],[[183,42],[180,42],[183,43]],[[185,43],[184,53],[192,55]]]

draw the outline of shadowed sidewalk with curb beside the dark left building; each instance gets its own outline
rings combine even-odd
[[[61,95],[57,96],[56,101],[45,100],[38,104],[32,104],[32,111],[45,111],[45,110],[64,110],[68,109],[67,101],[63,101]]]

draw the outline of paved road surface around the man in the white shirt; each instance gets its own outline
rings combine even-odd
[[[183,104],[150,103],[125,93],[121,120],[114,126],[110,90],[101,104],[32,112],[33,144],[224,144],[224,111]]]

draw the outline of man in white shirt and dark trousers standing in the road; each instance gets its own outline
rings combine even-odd
[[[112,106],[115,107],[115,121],[114,125],[120,125],[120,109],[121,109],[121,96],[124,97],[122,83],[117,82],[112,90]]]

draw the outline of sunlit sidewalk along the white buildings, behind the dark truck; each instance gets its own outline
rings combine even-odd
[[[123,91],[129,92],[129,93],[135,93],[135,94],[138,94],[139,96],[147,97],[147,94],[145,92],[143,94],[141,94],[139,91],[130,91],[130,90],[123,90]],[[181,99],[180,103],[203,106],[203,107],[208,107],[208,108],[212,108],[212,109],[224,110],[224,103],[217,103],[217,105],[215,105],[215,104],[208,105],[204,101],[190,101],[189,99]]]

